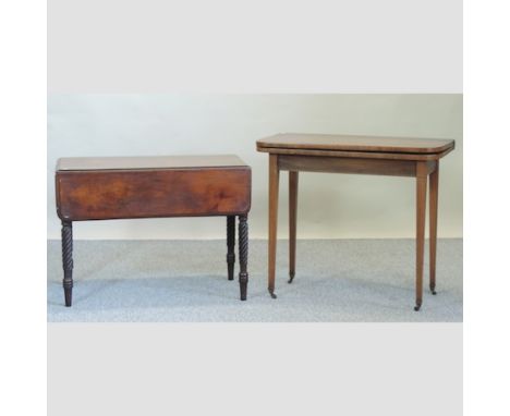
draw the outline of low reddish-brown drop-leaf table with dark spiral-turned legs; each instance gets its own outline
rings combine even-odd
[[[72,303],[74,221],[160,217],[227,217],[229,280],[239,217],[239,283],[245,301],[251,187],[251,168],[231,155],[59,159],[56,195],[65,306]]]

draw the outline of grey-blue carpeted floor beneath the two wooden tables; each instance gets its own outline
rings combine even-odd
[[[414,306],[413,240],[298,242],[288,284],[279,241],[277,299],[267,242],[250,242],[248,299],[227,280],[224,241],[75,241],[73,306],[63,306],[60,241],[48,241],[48,321],[462,321],[462,240],[438,242],[437,291]],[[239,268],[236,265],[236,272]]]

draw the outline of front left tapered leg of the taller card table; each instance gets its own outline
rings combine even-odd
[[[278,155],[269,155],[269,244],[268,244],[268,291],[272,298],[275,294],[276,248],[278,228],[278,191],[280,187],[280,171]]]

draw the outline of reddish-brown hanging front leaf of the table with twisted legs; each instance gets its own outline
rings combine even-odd
[[[59,217],[69,221],[226,216],[250,211],[248,167],[58,171]]]

